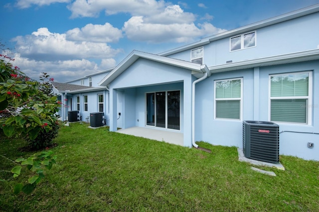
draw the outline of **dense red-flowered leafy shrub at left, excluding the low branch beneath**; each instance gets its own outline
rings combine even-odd
[[[48,75],[42,73],[42,83],[31,80],[10,64],[13,59],[0,57],[0,129],[7,137],[23,137],[31,147],[43,148],[57,134],[60,107]]]

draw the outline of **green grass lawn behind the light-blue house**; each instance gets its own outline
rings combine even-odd
[[[87,126],[61,128],[51,149],[57,164],[31,195],[0,182],[0,211],[319,211],[318,161],[281,156],[285,171],[261,167],[273,177],[239,162],[236,147],[198,142],[207,153]],[[33,153],[18,150],[24,141],[0,138],[1,155]],[[0,170],[12,167],[0,158]]]

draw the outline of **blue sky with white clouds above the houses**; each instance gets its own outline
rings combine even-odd
[[[317,3],[7,0],[0,5],[0,42],[11,49],[14,66],[31,78],[47,72],[55,81],[64,82],[115,67],[133,50],[161,53]]]

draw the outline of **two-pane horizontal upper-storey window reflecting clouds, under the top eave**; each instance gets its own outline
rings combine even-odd
[[[256,46],[256,31],[230,38],[230,51],[247,49]]]

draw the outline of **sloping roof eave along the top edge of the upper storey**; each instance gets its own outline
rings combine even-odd
[[[220,39],[223,39],[223,38],[235,36],[237,34],[241,34],[241,33],[247,32],[247,31],[253,31],[253,30],[256,30],[258,28],[270,26],[270,25],[273,25],[273,24],[276,24],[276,23],[284,22],[284,21],[287,21],[287,20],[291,20],[291,19],[294,19],[294,18],[298,18],[298,17],[304,16],[304,15],[309,15],[309,14],[312,14],[312,13],[315,13],[315,12],[318,12],[318,11],[319,11],[319,4],[315,4],[315,5],[312,5],[312,6],[309,6],[309,7],[305,7],[305,8],[302,8],[302,9],[298,9],[298,10],[283,14],[283,15],[279,15],[279,16],[276,16],[276,17],[273,17],[273,18],[262,20],[262,21],[258,21],[256,23],[252,23],[252,24],[249,24],[249,25],[246,25],[246,26],[242,26],[242,27],[239,27],[239,28],[236,28],[236,29],[228,30],[228,31],[216,34],[216,35],[212,35],[212,36],[203,38],[200,41],[197,41],[197,42],[185,45],[185,46],[181,46],[181,47],[178,47],[178,48],[175,48],[175,49],[171,49],[171,50],[168,50],[166,52],[162,52],[159,55],[160,56],[172,55],[172,54],[175,54],[175,53],[178,53],[178,52],[181,52],[181,51],[185,51],[185,50],[188,50],[188,49],[193,49],[193,48],[196,48],[196,47],[200,47],[200,46],[209,44],[212,41],[216,41],[216,40],[220,40]]]

